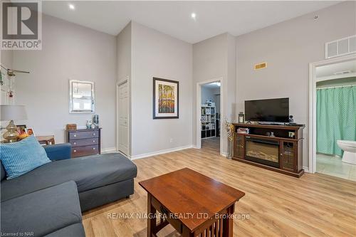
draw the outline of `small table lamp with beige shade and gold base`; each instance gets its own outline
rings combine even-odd
[[[10,121],[6,127],[3,137],[5,142],[16,142],[19,133],[14,124],[14,120],[26,120],[26,110],[24,105],[0,105],[0,120]]]

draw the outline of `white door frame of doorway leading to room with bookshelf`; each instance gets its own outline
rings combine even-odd
[[[196,112],[196,127],[197,127],[197,141],[196,141],[196,148],[197,149],[201,149],[201,85],[204,84],[209,84],[209,83],[215,83],[215,82],[219,82],[220,83],[220,131],[221,131],[221,125],[222,125],[222,121],[221,118],[224,118],[225,114],[224,114],[224,90],[223,90],[223,78],[213,78],[210,80],[204,80],[201,81],[199,83],[197,83],[197,112]],[[221,132],[220,132],[220,155],[223,154],[223,139],[221,139]]]

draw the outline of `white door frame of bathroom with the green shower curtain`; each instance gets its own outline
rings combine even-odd
[[[342,63],[349,60],[356,60],[356,54],[353,53],[347,56],[329,58],[320,60],[318,62],[309,63],[309,173],[316,172],[316,83],[318,81],[322,81],[316,79],[315,68],[322,65]]]

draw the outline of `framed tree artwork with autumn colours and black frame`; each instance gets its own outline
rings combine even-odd
[[[153,119],[179,118],[179,82],[153,78]]]

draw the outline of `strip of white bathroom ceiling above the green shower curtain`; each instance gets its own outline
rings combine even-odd
[[[320,66],[315,68],[315,73],[317,78],[324,78],[346,70],[350,70],[350,73],[356,73],[356,60]]]

